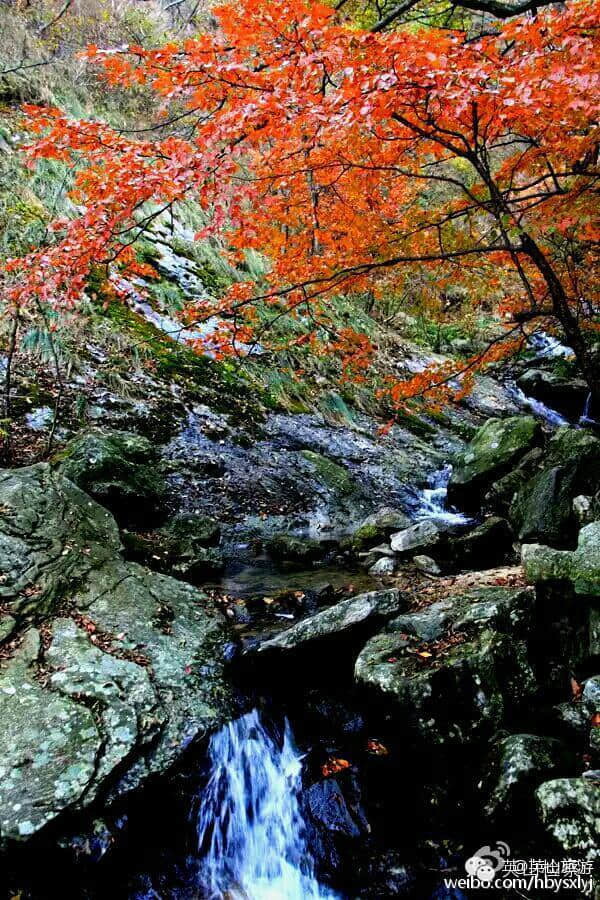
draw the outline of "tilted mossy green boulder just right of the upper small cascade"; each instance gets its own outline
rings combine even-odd
[[[541,440],[532,416],[490,419],[459,456],[448,484],[448,501],[461,509],[477,509],[489,486]]]

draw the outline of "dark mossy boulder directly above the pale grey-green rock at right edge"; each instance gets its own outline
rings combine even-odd
[[[572,467],[545,469],[515,495],[510,519],[520,541],[568,546],[575,534]]]

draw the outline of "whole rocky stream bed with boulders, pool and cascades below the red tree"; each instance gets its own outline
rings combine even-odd
[[[596,864],[600,437],[560,352],[385,434],[92,383],[0,471],[6,896],[464,897],[500,840]]]

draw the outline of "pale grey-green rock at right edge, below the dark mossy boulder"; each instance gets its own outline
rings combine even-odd
[[[531,584],[569,581],[577,594],[600,596],[600,522],[581,529],[576,550],[524,544],[521,558]]]

